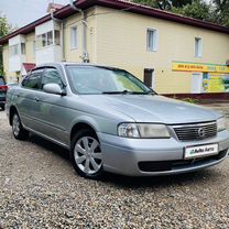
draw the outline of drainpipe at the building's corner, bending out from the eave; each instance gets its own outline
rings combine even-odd
[[[77,8],[74,3],[73,0],[69,0],[69,6],[73,10],[81,13],[81,28],[83,28],[83,54],[81,54],[81,58],[84,63],[89,63],[89,55],[87,52],[87,22],[86,22],[86,13]]]

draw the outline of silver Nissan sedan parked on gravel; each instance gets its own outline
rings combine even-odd
[[[78,174],[193,172],[228,155],[223,117],[159,96],[127,70],[56,63],[36,67],[7,97],[15,139],[35,133],[70,152]]]

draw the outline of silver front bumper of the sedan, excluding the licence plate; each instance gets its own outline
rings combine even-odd
[[[98,133],[103,152],[105,171],[129,175],[152,176],[197,171],[222,162],[228,155],[229,131],[217,137],[182,142],[176,139],[127,139]],[[218,143],[219,154],[198,160],[184,160],[186,146]]]

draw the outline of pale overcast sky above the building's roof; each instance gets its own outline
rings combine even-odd
[[[0,15],[6,15],[13,28],[21,28],[47,14],[47,6],[53,1],[62,4],[69,2],[69,0],[0,0]]]

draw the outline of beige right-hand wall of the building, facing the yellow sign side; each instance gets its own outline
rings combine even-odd
[[[225,64],[229,35],[154,18],[97,7],[97,62],[123,67],[143,79],[155,69],[159,92],[190,92],[190,73],[172,72],[172,61]],[[157,52],[146,51],[146,30],[159,30]],[[194,56],[195,37],[203,39],[201,58]]]

